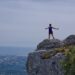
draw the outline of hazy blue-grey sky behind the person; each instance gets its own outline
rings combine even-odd
[[[75,0],[0,0],[0,46],[36,46],[49,23],[58,39],[74,34]]]

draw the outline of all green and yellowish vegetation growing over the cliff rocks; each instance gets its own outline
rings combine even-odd
[[[56,48],[54,53],[53,52],[44,53],[43,59],[48,59],[59,52],[63,53],[66,57],[64,61],[61,61],[62,67],[64,69],[64,75],[75,75],[75,46],[74,45]]]

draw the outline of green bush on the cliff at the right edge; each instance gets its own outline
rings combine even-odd
[[[65,75],[75,75],[75,46],[65,49],[66,60],[62,62]]]

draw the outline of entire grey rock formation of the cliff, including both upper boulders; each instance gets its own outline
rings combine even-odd
[[[65,56],[63,52],[55,51],[55,48],[64,45],[75,45],[75,35],[70,35],[62,42],[57,39],[42,41],[37,50],[28,55],[28,75],[64,75],[61,61],[65,60]]]

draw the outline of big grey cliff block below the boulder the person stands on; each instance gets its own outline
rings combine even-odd
[[[40,50],[30,53],[27,60],[28,75],[64,75],[60,62],[65,57],[62,53],[52,55],[53,52],[54,50]]]

